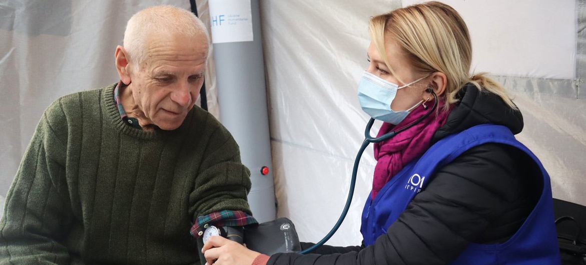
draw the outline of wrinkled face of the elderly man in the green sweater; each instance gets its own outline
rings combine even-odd
[[[131,66],[132,97],[152,124],[174,130],[193,108],[203,84],[205,37],[153,34],[142,66]]]

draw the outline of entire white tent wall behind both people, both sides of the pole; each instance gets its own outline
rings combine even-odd
[[[515,95],[526,122],[519,139],[543,160],[554,196],[586,205],[586,30],[578,30],[585,0],[445,2],[468,23],[475,71],[495,73]],[[0,3],[0,214],[43,110],[62,95],[117,81],[113,53],[125,22],[157,4],[189,9],[185,0]],[[356,99],[368,19],[407,4],[260,2],[278,215],[291,218],[304,241],[321,239],[346,199],[368,118]],[[197,5],[209,24],[207,0]],[[208,106],[218,116],[212,57],[207,67]],[[350,213],[330,244],[360,244],[374,164],[369,147]]]

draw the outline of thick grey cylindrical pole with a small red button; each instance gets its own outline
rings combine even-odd
[[[213,27],[221,26],[220,23],[225,22],[223,25],[230,26],[230,23],[240,23],[243,17],[250,17],[253,41],[213,44],[220,119],[239,144],[242,162],[250,168],[252,189],[248,195],[248,203],[254,217],[259,222],[272,221],[276,216],[276,207],[258,0],[250,1],[250,11],[246,5],[243,8],[246,11],[242,12],[212,13],[213,10],[230,8],[226,5],[212,6],[222,3],[225,1],[209,1],[212,35]],[[237,18],[230,20],[235,17]],[[233,33],[236,35],[241,32]]]

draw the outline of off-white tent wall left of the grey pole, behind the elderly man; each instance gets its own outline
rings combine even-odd
[[[45,108],[66,94],[117,82],[114,50],[122,44],[127,20],[141,9],[161,4],[190,9],[188,0],[0,1],[0,124],[4,125],[0,129],[0,216]],[[200,18],[209,26],[207,0],[197,5]],[[218,117],[213,77],[210,57],[207,105]]]

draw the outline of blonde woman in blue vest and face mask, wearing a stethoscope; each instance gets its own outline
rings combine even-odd
[[[559,264],[547,172],[515,139],[523,118],[503,87],[470,76],[464,20],[440,2],[370,20],[363,110],[383,121],[362,246],[268,257],[223,238],[209,264]],[[303,247],[311,244],[304,243]]]

